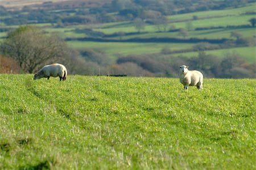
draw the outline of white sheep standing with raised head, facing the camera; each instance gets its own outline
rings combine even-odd
[[[197,86],[198,90],[203,89],[203,74],[197,70],[188,70],[188,66],[180,66],[180,83],[184,89],[188,90],[188,86]]]

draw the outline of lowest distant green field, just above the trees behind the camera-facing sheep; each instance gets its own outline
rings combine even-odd
[[[205,53],[213,54],[214,56],[217,56],[220,58],[224,58],[227,54],[235,53],[241,56],[247,62],[256,63],[256,47],[255,46],[219,49],[219,50],[207,50],[205,51]],[[177,54],[172,54],[172,56],[195,57],[195,56],[198,56],[198,53],[197,52],[177,53]]]

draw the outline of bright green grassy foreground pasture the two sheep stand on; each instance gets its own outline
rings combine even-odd
[[[0,169],[255,169],[255,84],[0,75]]]

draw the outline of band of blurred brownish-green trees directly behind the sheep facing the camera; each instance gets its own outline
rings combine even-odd
[[[200,70],[207,78],[255,78],[255,63],[247,63],[236,53],[223,58],[199,52],[195,57],[174,57],[163,54],[130,55],[117,59],[111,74],[131,76],[179,77],[179,66]],[[134,73],[134,70],[138,72]]]

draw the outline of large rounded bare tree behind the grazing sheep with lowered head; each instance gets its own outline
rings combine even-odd
[[[10,32],[0,46],[0,52],[13,58],[27,73],[34,73],[42,65],[70,58],[71,54],[59,37],[31,26],[21,26]]]

